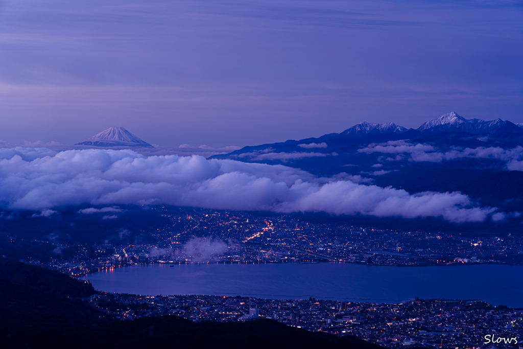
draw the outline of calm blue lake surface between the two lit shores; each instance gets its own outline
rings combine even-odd
[[[523,307],[523,266],[150,264],[116,268],[86,278],[97,290],[138,295],[315,297],[383,303],[414,297],[456,298]]]

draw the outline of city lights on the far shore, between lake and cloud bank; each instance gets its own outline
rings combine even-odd
[[[523,264],[523,238],[511,235],[427,233],[311,223],[279,215],[259,217],[248,212],[195,210],[191,215],[158,207],[169,219],[165,227],[143,232],[155,243],[121,245],[60,245],[73,249],[43,265],[81,275],[99,269],[136,263],[308,263],[346,262],[371,265],[429,266],[465,263]],[[222,248],[193,254],[195,237],[212,237]],[[206,238],[201,238],[206,239]],[[198,243],[198,241],[197,241]],[[209,241],[200,241],[207,243]],[[209,247],[209,246],[208,246]],[[211,246],[212,247],[212,246]],[[28,261],[40,264],[39,261]]]

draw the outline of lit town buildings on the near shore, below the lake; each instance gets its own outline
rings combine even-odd
[[[385,304],[240,296],[100,294],[88,301],[122,320],[166,314],[192,321],[249,321],[265,317],[310,331],[356,335],[389,348],[517,348],[523,343],[523,309],[492,307],[475,300],[416,299]],[[510,343],[492,343],[492,339],[498,341],[499,338],[516,339]],[[491,342],[486,343],[488,340]]]

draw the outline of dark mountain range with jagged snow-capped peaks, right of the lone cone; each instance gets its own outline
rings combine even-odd
[[[410,193],[460,191],[483,205],[523,211],[522,127],[450,112],[417,129],[361,122],[340,133],[244,147],[211,158],[282,164]]]

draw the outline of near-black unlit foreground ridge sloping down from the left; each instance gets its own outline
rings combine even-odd
[[[275,320],[194,323],[177,316],[117,321],[90,307],[90,284],[39,266],[0,264],[2,348],[349,348],[379,349]]]

